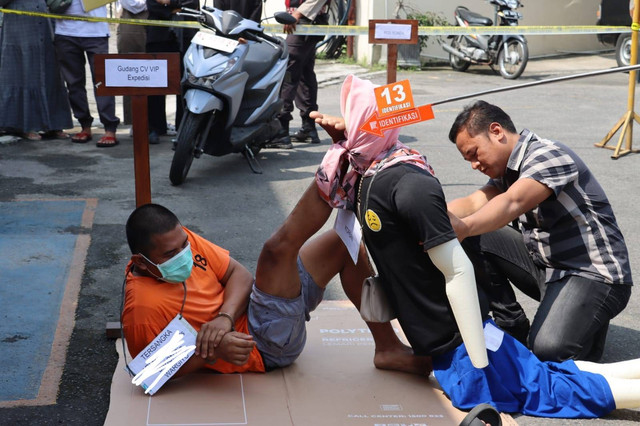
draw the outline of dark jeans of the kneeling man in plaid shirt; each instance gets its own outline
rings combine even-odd
[[[534,264],[522,235],[511,227],[467,238],[462,246],[474,264],[496,324],[517,332],[528,322],[513,283],[540,302],[528,336],[529,348],[540,359],[600,359],[609,320],[626,307],[630,285],[609,285],[575,275],[546,283],[545,269]]]

